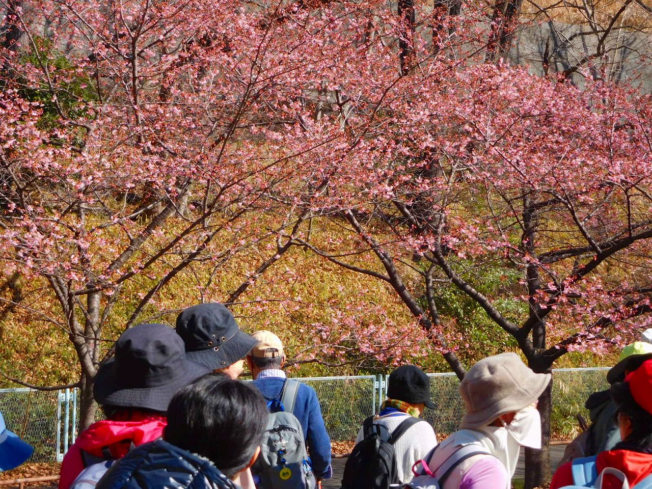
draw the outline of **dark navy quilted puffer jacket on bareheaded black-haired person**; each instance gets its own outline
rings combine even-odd
[[[213,462],[158,439],[130,451],[96,489],[238,489]]]

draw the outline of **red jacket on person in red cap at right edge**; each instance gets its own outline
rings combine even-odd
[[[629,485],[633,487],[647,475],[652,474],[652,455],[629,450],[600,452],[595,460],[595,467],[598,473],[602,472],[605,467],[614,467],[614,469],[622,471],[627,476]],[[552,476],[550,489],[571,486],[572,483],[571,462],[567,462],[559,466],[555,475]],[[622,482],[612,475],[606,476],[602,481],[603,489],[620,489],[622,485]]]

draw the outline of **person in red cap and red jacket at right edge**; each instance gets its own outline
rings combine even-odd
[[[652,475],[652,359],[647,359],[627,374],[624,382],[614,383],[610,393],[617,405],[622,441],[612,450],[597,455],[593,477],[597,477],[606,467],[612,467],[621,471],[627,477],[629,486],[634,487]],[[586,459],[577,462],[582,460]],[[574,483],[572,462],[569,462],[557,469],[550,489]],[[606,475],[602,481],[602,489],[620,489],[621,486],[623,482],[613,475]]]

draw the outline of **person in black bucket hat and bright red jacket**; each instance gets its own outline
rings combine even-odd
[[[160,438],[172,396],[207,372],[186,359],[183,340],[171,327],[141,324],[126,330],[93,384],[107,419],[91,424],[70,446],[61,463],[59,489],[70,488],[85,467],[117,460]]]

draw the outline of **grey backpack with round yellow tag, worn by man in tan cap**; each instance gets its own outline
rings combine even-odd
[[[286,379],[279,399],[268,399],[270,411],[261,451],[252,467],[260,489],[313,489],[316,486],[301,423],[292,411],[299,382]]]

